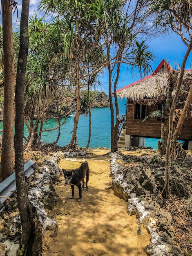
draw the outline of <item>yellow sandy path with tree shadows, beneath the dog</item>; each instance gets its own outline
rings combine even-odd
[[[71,186],[61,182],[55,186],[60,201],[49,214],[58,222],[57,234],[47,231],[44,238],[44,256],[146,256],[145,247],[150,235],[142,228],[138,235],[135,216],[129,216],[125,201],[111,189],[109,159],[62,159],[60,168],[67,170],[87,161],[90,168],[89,191],[82,191],[78,203],[78,188],[74,199],[69,199]]]

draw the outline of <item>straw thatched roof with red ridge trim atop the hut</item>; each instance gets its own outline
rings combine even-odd
[[[150,76],[117,90],[117,96],[147,105],[156,104],[166,97],[167,78],[170,70],[172,68],[163,59]]]

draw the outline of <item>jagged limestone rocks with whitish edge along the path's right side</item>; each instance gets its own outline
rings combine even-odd
[[[141,157],[125,156],[120,152],[111,153],[110,156],[114,193],[128,201],[127,212],[130,215],[136,214],[138,221],[141,224],[145,223],[151,234],[152,238],[150,245],[147,246],[147,254],[181,256],[180,250],[174,244],[172,216],[159,206],[162,200],[159,190],[163,187],[165,180],[165,159],[158,155],[152,157],[146,155]],[[127,162],[127,158],[129,162],[137,164],[126,170],[123,162]],[[192,162],[192,159],[190,161]],[[188,196],[190,193],[192,173],[189,172],[181,174],[179,168],[171,165],[170,187],[176,195]],[[177,184],[178,180],[179,184]],[[190,205],[189,203],[183,211],[190,213]]]

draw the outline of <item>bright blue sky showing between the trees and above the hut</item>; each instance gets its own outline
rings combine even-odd
[[[20,17],[22,0],[18,0],[17,2],[18,2],[18,16]],[[37,11],[39,2],[40,0],[30,0],[29,16],[33,16],[33,14]],[[14,16],[13,16],[13,23],[16,21],[16,18]],[[2,14],[0,15],[0,24],[2,24],[1,18],[2,18]],[[20,19],[18,18],[18,20]],[[151,39],[148,45],[150,46],[150,51],[156,56],[155,62],[152,63],[152,70],[156,69],[156,67],[159,65],[159,63],[163,58],[172,67],[177,68],[178,64],[181,66],[183,57],[187,49],[186,45],[182,42],[180,36],[174,33],[170,36],[164,36],[164,38],[162,39],[161,38]],[[191,68],[192,68],[192,54],[190,54],[190,57],[188,58],[188,62],[185,69],[191,69]],[[126,85],[129,85],[130,83],[133,83],[139,79],[141,79],[141,77],[138,76],[137,74],[132,75],[131,68],[127,70],[127,66],[122,65],[121,75],[120,75],[117,89],[120,89]],[[108,92],[107,72],[104,72],[104,76],[100,77],[100,83],[102,84],[101,85],[102,90],[105,92]],[[98,90],[99,89],[100,88],[98,88]]]

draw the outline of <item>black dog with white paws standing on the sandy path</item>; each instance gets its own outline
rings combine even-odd
[[[65,177],[65,184],[71,185],[71,189],[72,189],[72,195],[70,196],[70,198],[74,198],[74,192],[75,192],[75,186],[78,186],[79,189],[79,199],[78,202],[82,201],[82,190],[84,189],[84,184],[86,184],[86,189],[87,191],[89,191],[88,186],[87,186],[87,182],[89,181],[89,165],[87,162],[84,162],[80,165],[79,168],[75,169],[75,170],[71,170],[71,171],[66,171],[65,169],[63,170],[63,174]],[[84,178],[86,175],[86,183],[84,182]],[[83,181],[83,186],[81,189],[81,181]]]

